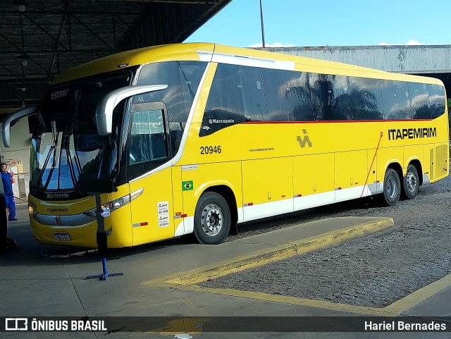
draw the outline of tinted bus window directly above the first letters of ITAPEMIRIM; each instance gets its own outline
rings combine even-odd
[[[409,88],[407,82],[381,80],[385,119],[409,119]]]

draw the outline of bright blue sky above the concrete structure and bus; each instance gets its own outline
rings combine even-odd
[[[450,0],[262,0],[266,47],[451,44]],[[185,42],[261,47],[259,0],[232,0]]]

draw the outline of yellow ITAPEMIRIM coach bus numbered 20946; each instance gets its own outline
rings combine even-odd
[[[109,247],[375,195],[387,205],[448,174],[440,80],[218,44],[100,58],[59,75],[37,108],[29,196],[35,238]]]

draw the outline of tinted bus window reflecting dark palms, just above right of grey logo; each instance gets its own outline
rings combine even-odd
[[[311,101],[317,121],[351,119],[347,77],[342,75],[311,74]]]

